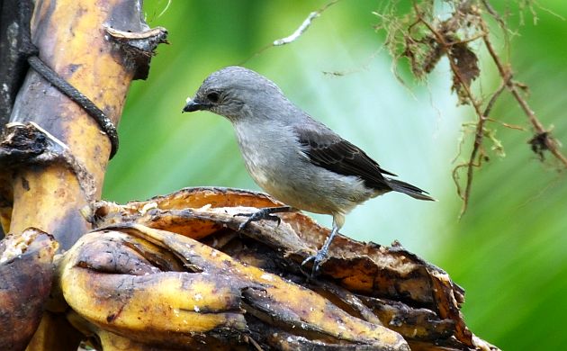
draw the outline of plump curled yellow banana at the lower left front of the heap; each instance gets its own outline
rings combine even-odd
[[[138,257],[140,275],[112,274],[112,266],[104,272],[100,263],[99,271],[91,269],[83,254],[92,241],[130,241],[119,232],[100,234],[81,238],[61,265],[65,299],[86,320],[128,338],[172,345],[192,344],[207,338],[207,332],[224,330],[229,338],[247,330],[239,309],[240,290],[227,277],[211,282],[204,274],[149,273],[143,257]]]

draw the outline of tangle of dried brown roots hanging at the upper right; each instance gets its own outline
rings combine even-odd
[[[537,4],[526,1],[523,5],[534,12],[533,6]],[[509,45],[509,28],[489,0],[443,0],[440,3],[412,0],[410,11],[406,14],[400,14],[396,2],[390,2],[384,6],[383,11],[375,14],[380,20],[376,29],[385,32],[385,45],[390,49],[395,62],[407,58],[413,75],[425,80],[441,58],[446,57],[453,83],[451,89],[455,92],[458,103],[473,108],[476,121],[474,132],[471,133],[473,140],[470,154],[453,170],[457,194],[463,200],[461,215],[467,210],[471,200],[474,170],[489,159],[486,144],[492,143],[492,149],[497,155],[504,155],[500,140],[494,138],[495,129],[491,127],[491,122],[499,122],[509,129],[530,130],[532,138],[528,143],[536,156],[544,160],[549,152],[559,167],[567,167],[567,157],[563,155],[560,140],[540,121],[527,102],[527,85],[515,79],[511,65],[501,58],[502,55],[492,43],[496,28],[501,31],[497,35],[503,36],[506,45]],[[493,20],[496,20],[498,27],[491,28],[489,23]],[[486,98],[473,85],[481,76],[478,59],[481,50],[488,53],[500,76],[500,87]],[[491,116],[492,107],[505,92],[512,96],[519,110],[526,115],[528,128],[513,128],[501,121],[501,117]],[[486,136],[491,138],[485,138]]]

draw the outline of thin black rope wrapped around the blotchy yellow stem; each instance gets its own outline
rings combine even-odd
[[[116,151],[118,151],[118,132],[116,131],[116,127],[114,127],[110,118],[108,118],[101,109],[99,109],[88,97],[86,97],[85,94],[79,92],[75,86],[70,85],[67,80],[59,76],[57,72],[47,66],[45,62],[39,58],[39,50],[31,42],[31,6],[26,3],[26,1],[22,1],[20,7],[21,28],[25,28],[23,30],[23,45],[20,50],[21,54],[27,57],[30,67],[47,80],[50,85],[58,88],[61,93],[66,94],[69,99],[73,100],[81,106],[85,112],[93,117],[96,124],[98,124],[100,129],[106,133],[108,139],[110,139],[110,158],[112,158],[116,154]]]

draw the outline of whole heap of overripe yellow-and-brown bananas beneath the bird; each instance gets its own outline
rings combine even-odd
[[[106,345],[497,349],[464,324],[463,289],[399,244],[338,237],[311,278],[302,260],[329,229],[293,211],[238,232],[246,218],[236,214],[277,205],[266,194],[211,187],[96,202],[84,211],[96,231],[59,266],[62,293],[106,333],[98,337]]]

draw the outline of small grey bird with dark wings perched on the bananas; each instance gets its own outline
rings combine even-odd
[[[323,247],[303,265],[316,273],[345,215],[356,205],[391,191],[419,200],[434,200],[419,187],[392,179],[365,151],[342,139],[289,101],[265,76],[244,67],[222,68],[203,82],[184,112],[210,111],[232,122],[247,170],[267,193],[296,209],[333,216],[333,229]],[[252,220],[278,220],[259,210]]]

